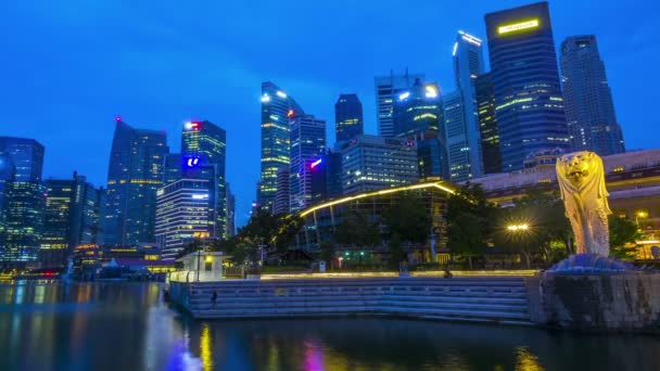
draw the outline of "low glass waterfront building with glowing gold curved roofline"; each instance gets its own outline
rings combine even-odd
[[[302,248],[318,250],[323,242],[333,241],[335,227],[341,223],[350,213],[358,213],[366,216],[367,220],[378,226],[383,214],[402,194],[417,195],[420,197],[426,210],[431,215],[432,229],[435,232],[436,253],[446,253],[443,245],[446,231],[446,203],[450,194],[455,192],[455,186],[444,180],[432,180],[416,182],[407,186],[382,189],[379,191],[354,193],[350,196],[316,204],[301,212],[304,226],[299,235]],[[429,231],[431,232],[431,231]],[[386,233],[382,230],[381,233]],[[383,254],[380,246],[360,247],[370,254]],[[351,248],[342,254],[350,257]],[[416,244],[410,246],[409,258],[412,261],[432,261],[430,245]],[[342,252],[343,253],[343,252]],[[354,252],[353,252],[354,253]]]

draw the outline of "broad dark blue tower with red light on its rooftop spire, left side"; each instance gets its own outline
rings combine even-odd
[[[163,186],[164,131],[134,129],[116,118],[103,206],[103,242],[135,245],[155,241],[156,190]]]

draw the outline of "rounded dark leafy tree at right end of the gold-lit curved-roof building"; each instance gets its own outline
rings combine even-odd
[[[479,184],[466,184],[447,202],[447,245],[452,253],[468,258],[483,255],[493,230],[496,207],[488,203]]]

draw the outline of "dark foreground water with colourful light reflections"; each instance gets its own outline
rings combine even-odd
[[[0,285],[0,370],[660,370],[660,337],[389,318],[192,321],[160,285]]]

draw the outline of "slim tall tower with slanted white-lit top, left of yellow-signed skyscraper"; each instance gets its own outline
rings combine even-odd
[[[483,73],[481,42],[458,31],[453,50],[456,91],[444,97],[449,174],[456,182],[483,175],[475,89]]]

